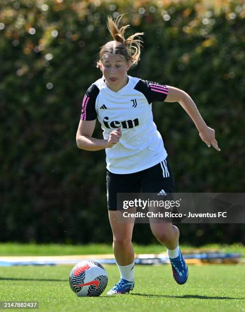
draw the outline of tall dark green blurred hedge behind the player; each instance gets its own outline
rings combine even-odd
[[[108,15],[126,13],[129,33],[145,33],[129,74],[185,90],[216,131],[221,152],[206,147],[178,103],[154,104],[177,190],[244,191],[243,1],[2,0],[0,12],[2,241],[111,241],[105,152],[75,140],[84,92],[101,76]],[[245,242],[241,225],[180,228],[195,245]],[[138,224],[134,239],[155,241]]]

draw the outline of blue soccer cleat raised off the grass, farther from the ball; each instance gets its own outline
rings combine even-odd
[[[172,266],[174,279],[178,284],[184,284],[188,278],[188,267],[184,261],[183,255],[179,249],[179,256],[176,258],[169,258]]]

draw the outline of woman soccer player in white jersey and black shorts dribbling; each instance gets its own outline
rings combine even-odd
[[[220,150],[214,130],[206,125],[191,97],[184,91],[128,75],[140,57],[142,39],[136,33],[127,39],[129,25],[118,29],[122,16],[108,17],[113,40],[100,50],[97,67],[103,76],[86,91],[77,132],[77,145],[95,151],[106,149],[107,203],[113,232],[113,252],[120,280],[107,293],[124,294],[134,288],[133,223],[116,221],[117,193],[173,193],[174,177],[160,133],[153,122],[152,102],[179,102],[193,120],[201,139]],[[96,118],[104,139],[92,137]],[[120,208],[119,208],[120,209]],[[151,223],[157,240],[167,248],[173,276],[184,284],[188,268],[179,248],[179,229],[171,223]]]

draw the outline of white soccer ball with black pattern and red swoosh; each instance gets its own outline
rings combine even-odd
[[[69,283],[78,297],[100,296],[107,287],[108,277],[103,266],[94,261],[81,261],[71,270]]]

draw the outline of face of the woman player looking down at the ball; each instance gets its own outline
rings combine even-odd
[[[107,54],[99,62],[101,71],[106,80],[106,85],[112,91],[117,92],[128,83],[128,70],[130,62],[119,54]]]

